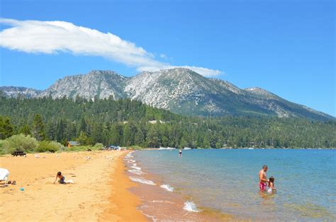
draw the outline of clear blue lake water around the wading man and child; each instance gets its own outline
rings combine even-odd
[[[196,206],[252,220],[336,220],[336,151],[204,149],[137,151],[148,173]],[[276,194],[259,194],[258,172],[267,164]]]

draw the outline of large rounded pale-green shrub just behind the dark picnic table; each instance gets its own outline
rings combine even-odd
[[[6,140],[9,142],[9,148],[13,149],[13,151],[31,152],[38,148],[38,141],[30,135],[13,135]]]

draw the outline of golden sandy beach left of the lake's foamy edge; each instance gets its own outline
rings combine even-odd
[[[0,187],[0,221],[146,221],[137,209],[140,200],[128,191],[136,185],[124,172],[124,154],[93,151],[0,157],[0,168],[8,169],[9,180],[17,182]],[[53,184],[57,171],[74,184]]]

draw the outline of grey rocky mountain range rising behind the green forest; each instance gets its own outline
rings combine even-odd
[[[125,77],[114,71],[94,70],[66,76],[46,90],[1,86],[8,97],[54,99],[130,98],[183,115],[262,115],[335,120],[335,117],[291,103],[262,88],[245,88],[218,78],[206,78],[190,69],[144,71]]]

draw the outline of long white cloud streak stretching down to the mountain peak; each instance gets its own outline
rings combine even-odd
[[[122,40],[112,33],[77,26],[65,21],[18,21],[0,18],[0,23],[10,25],[0,32],[0,46],[27,53],[54,54],[71,52],[73,54],[104,57],[138,71],[156,71],[184,67],[203,76],[215,76],[221,72],[196,66],[172,66],[159,62],[150,52],[135,43]],[[160,54],[159,57],[167,57]]]

